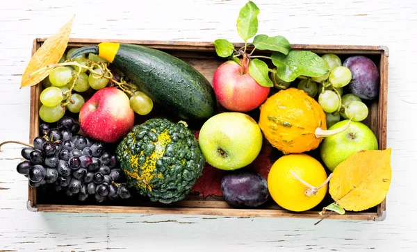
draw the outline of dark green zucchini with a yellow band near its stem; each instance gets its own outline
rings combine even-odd
[[[183,119],[207,119],[215,113],[215,94],[208,80],[169,53],[138,44],[104,42],[76,49],[71,56],[83,53],[108,60],[152,101]]]

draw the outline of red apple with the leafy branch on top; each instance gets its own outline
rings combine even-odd
[[[227,110],[247,112],[258,108],[268,97],[270,87],[259,85],[250,76],[248,68],[245,65],[243,74],[240,74],[241,66],[233,60],[228,60],[215,70],[215,97]]]

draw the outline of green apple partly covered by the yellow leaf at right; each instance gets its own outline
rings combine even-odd
[[[339,121],[329,130],[340,128],[348,121]],[[345,131],[325,137],[320,144],[320,156],[327,169],[333,171],[338,164],[349,158],[353,153],[377,149],[377,137],[370,128],[359,121],[350,121],[350,126]]]

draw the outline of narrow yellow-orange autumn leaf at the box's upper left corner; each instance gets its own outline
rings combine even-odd
[[[22,75],[20,88],[40,83],[51,72],[51,68],[47,68],[47,65],[59,62],[67,49],[74,17],[75,15],[57,33],[48,37],[38,51],[33,54]]]

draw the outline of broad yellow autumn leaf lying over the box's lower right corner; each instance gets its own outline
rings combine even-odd
[[[391,176],[391,149],[359,151],[334,169],[329,193],[345,210],[366,210],[384,201]]]

